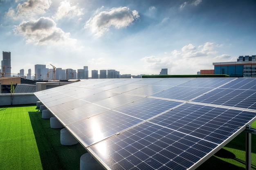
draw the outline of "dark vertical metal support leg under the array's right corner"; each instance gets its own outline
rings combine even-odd
[[[252,155],[252,134],[251,133],[245,133],[246,134],[246,140],[245,140],[245,170],[251,170],[251,155]]]

